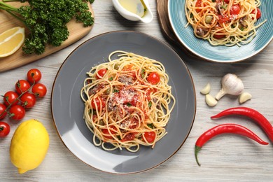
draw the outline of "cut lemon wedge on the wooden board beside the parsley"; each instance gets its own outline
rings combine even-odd
[[[0,57],[12,55],[25,41],[25,28],[14,27],[0,34]]]

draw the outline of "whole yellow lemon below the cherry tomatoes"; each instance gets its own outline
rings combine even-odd
[[[23,174],[35,169],[43,162],[48,152],[49,136],[45,127],[38,120],[21,123],[10,142],[10,160]]]

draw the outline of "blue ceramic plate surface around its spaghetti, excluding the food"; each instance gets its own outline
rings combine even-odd
[[[185,14],[185,0],[169,0],[168,12],[169,20],[179,41],[188,48],[193,54],[212,62],[239,62],[256,55],[265,48],[273,38],[273,1],[262,1],[260,10],[262,17],[256,24],[267,19],[264,25],[257,29],[257,34],[253,40],[241,47],[234,45],[213,46],[208,41],[197,38],[193,34],[193,27],[187,24]]]

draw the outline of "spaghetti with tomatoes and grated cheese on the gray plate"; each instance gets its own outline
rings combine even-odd
[[[167,134],[175,98],[160,62],[118,50],[87,75],[80,96],[95,146],[137,152],[140,145],[153,148]]]

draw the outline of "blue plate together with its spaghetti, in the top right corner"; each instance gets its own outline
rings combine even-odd
[[[212,62],[239,62],[272,41],[272,5],[254,0],[169,0],[168,12],[176,37],[190,52]]]

